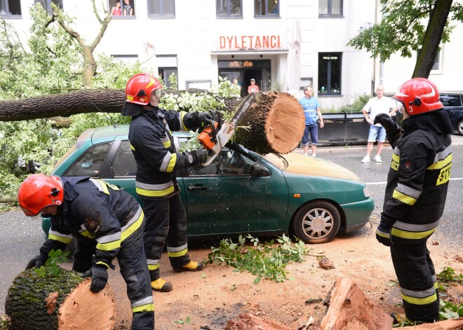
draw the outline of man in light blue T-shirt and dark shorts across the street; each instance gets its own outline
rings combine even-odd
[[[316,156],[316,146],[318,145],[318,121],[320,128],[323,128],[323,116],[320,111],[320,104],[314,97],[314,89],[310,86],[304,88],[304,97],[299,99],[299,103],[304,109],[305,116],[305,129],[302,136],[302,149],[304,155],[307,156],[309,152],[309,142],[311,142],[312,157]]]

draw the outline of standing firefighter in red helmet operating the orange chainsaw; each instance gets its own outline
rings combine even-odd
[[[175,271],[202,270],[203,263],[192,261],[187,247],[187,214],[180,198],[175,172],[205,163],[210,151],[178,151],[171,131],[198,129],[212,123],[209,113],[166,111],[159,108],[162,85],[149,74],[136,74],[126,85],[122,116],[131,116],[128,139],[137,163],[135,186],[143,200],[147,217],[145,254],[152,289],[168,292],[170,282],[161,278],[159,262],[165,245],[170,266]]]

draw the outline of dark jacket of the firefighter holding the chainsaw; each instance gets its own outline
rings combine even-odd
[[[142,199],[168,198],[179,193],[175,172],[187,167],[187,156],[179,153],[171,131],[187,131],[184,111],[144,109],[133,116],[128,130],[130,148],[137,162],[135,186]]]

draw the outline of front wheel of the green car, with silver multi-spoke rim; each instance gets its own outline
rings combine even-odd
[[[305,243],[330,242],[341,226],[341,214],[330,202],[309,202],[294,216],[293,231]]]

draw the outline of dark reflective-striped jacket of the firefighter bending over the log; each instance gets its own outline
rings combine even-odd
[[[121,242],[142,225],[143,214],[133,196],[107,182],[88,177],[61,177],[64,202],[51,216],[48,241],[41,254],[64,249],[72,238],[97,242],[94,263],[112,265]]]

